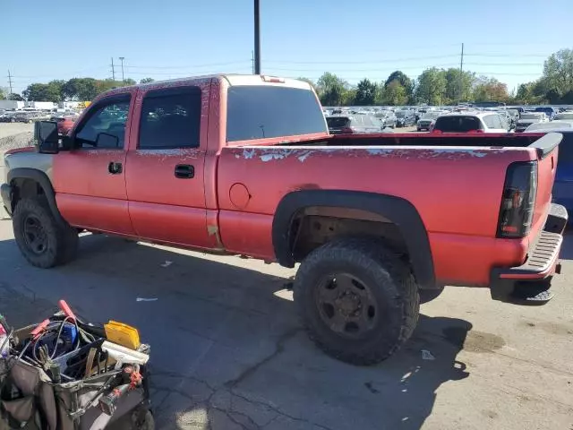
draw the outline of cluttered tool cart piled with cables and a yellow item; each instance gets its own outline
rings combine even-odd
[[[59,305],[17,330],[0,315],[0,430],[153,430],[150,346],[133,327]]]

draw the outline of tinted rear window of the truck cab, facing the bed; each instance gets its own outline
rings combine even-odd
[[[270,85],[228,89],[227,142],[309,133],[327,133],[311,90]]]

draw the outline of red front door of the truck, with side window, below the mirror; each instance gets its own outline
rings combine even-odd
[[[54,157],[57,206],[73,226],[133,235],[124,148],[131,99],[125,93],[96,102],[73,131],[73,150]]]

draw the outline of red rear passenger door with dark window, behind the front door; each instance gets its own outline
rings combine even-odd
[[[208,82],[138,93],[125,178],[133,228],[144,239],[217,245],[207,229],[203,177],[209,95]]]

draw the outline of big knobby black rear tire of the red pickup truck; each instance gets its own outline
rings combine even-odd
[[[339,305],[344,309],[338,311],[321,307],[321,288],[329,294],[336,290],[338,304],[347,296],[348,290],[343,293],[338,286],[325,287],[336,284],[336,277],[350,277],[353,284],[357,280],[367,291],[370,302],[364,301],[368,303],[364,306],[368,309],[365,318],[371,322],[367,330],[352,333],[351,319],[346,320],[349,323],[345,323],[344,332],[335,331],[325,322],[325,314],[348,312],[346,304]],[[362,304],[363,293],[358,294]],[[408,266],[372,239],[338,239],[312,251],[296,273],[294,297],[311,340],[329,356],[357,366],[379,363],[396,352],[414,331],[420,310],[418,288]],[[352,318],[357,312],[364,313],[364,309],[357,310],[362,307],[358,305],[351,311]]]

